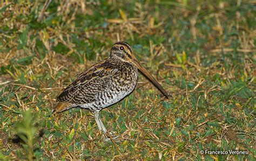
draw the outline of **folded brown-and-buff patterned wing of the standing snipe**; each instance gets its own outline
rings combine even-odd
[[[89,103],[96,101],[99,91],[108,88],[113,75],[118,74],[114,64],[106,60],[93,65],[87,71],[78,75],[78,78],[57,96],[59,102]]]

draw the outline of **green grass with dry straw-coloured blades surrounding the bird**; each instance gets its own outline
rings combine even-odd
[[[254,2],[53,1],[38,22],[43,6],[1,3],[1,160],[255,159]],[[51,110],[119,40],[171,96],[140,74],[134,92],[100,114],[129,139],[105,143],[89,110]]]

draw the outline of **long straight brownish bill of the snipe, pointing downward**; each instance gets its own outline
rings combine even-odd
[[[165,95],[166,98],[168,98],[168,94],[164,90],[164,88],[158,83],[156,79],[153,78],[153,76],[147,71],[147,69],[145,69],[142,64],[140,64],[139,60],[134,57],[134,55],[132,55],[132,63],[140,70],[140,72],[142,72],[147,77],[147,79],[149,79],[153,83],[154,86],[156,86],[161,91],[161,93]]]

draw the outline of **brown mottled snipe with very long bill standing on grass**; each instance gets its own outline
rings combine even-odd
[[[138,71],[142,72],[166,98],[169,97],[166,90],[133,55],[131,46],[119,41],[112,46],[108,58],[80,73],[77,79],[56,97],[57,104],[52,113],[61,113],[75,107],[89,109],[94,114],[99,130],[103,131],[104,141],[108,141],[110,137],[107,136],[107,130],[100,119],[100,110],[110,107],[132,93],[138,81]],[[112,135],[110,132],[109,134]]]

